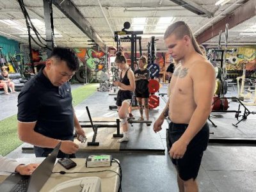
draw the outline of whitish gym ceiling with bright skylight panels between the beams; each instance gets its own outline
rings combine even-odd
[[[52,0],[54,1],[54,0]],[[67,0],[62,0],[67,1]],[[212,13],[213,17],[202,17],[190,12],[183,6],[173,3],[170,0],[71,0],[77,7],[81,15],[88,20],[92,29],[99,35],[99,38],[108,47],[116,46],[114,42],[113,31],[121,31],[124,28],[124,22],[129,21],[133,30],[134,24],[132,18],[147,18],[143,29],[142,49],[147,50],[147,44],[150,36],[156,36],[159,39],[156,47],[159,50],[166,50],[163,44],[162,31],[156,31],[157,22],[161,17],[175,17],[174,21],[183,20],[191,27],[195,36],[204,33],[205,29],[213,26],[216,22],[234,12],[237,8],[252,0],[230,0],[223,6],[216,6],[217,0],[186,0],[187,3],[193,3]],[[255,0],[254,0],[255,1]],[[42,0],[24,0],[24,4],[28,10],[31,19],[42,21],[38,26],[40,34],[45,34],[44,28],[44,4]],[[100,7],[101,6],[101,7]],[[88,42],[90,38],[86,36],[76,24],[68,19],[56,6],[52,5],[54,17],[54,29],[56,34],[56,45],[69,47],[90,47],[92,42]],[[17,25],[8,25],[0,22],[0,35],[7,38],[15,39],[19,42],[28,43],[28,31],[26,30],[26,22],[24,15],[20,10],[19,3],[15,0],[0,0],[0,20],[13,20]],[[38,22],[36,20],[36,22]],[[166,28],[166,26],[162,26]],[[19,28],[19,29],[18,29]],[[20,29],[21,28],[21,29]],[[229,29],[228,44],[229,45],[256,45],[255,36],[241,36],[240,33],[254,31],[256,33],[256,16],[238,24]],[[206,45],[217,45],[218,36],[204,42]],[[125,49],[130,49],[129,42],[122,42]]]

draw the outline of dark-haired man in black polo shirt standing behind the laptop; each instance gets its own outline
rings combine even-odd
[[[73,142],[84,131],[72,107],[68,80],[79,68],[76,52],[54,48],[45,67],[25,84],[18,97],[18,134],[20,140],[35,146],[36,157],[47,157],[61,141],[59,158],[75,157]]]

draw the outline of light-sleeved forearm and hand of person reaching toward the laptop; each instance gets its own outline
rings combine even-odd
[[[17,172],[20,175],[31,175],[38,165],[37,163],[20,164],[15,159],[0,156],[0,172]]]

